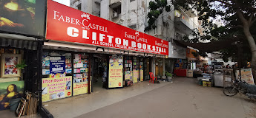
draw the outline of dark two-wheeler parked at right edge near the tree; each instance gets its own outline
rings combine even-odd
[[[223,89],[223,93],[229,97],[236,95],[239,91],[250,99],[253,98],[256,100],[256,86],[250,85],[244,80],[232,80],[232,86],[228,86]]]

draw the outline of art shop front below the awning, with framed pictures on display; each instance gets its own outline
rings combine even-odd
[[[1,34],[3,35],[3,34]],[[20,44],[17,44],[20,42]],[[25,45],[22,45],[25,44]],[[25,97],[25,91],[39,89],[38,60],[42,41],[0,38],[1,77],[0,111],[10,108],[10,101]],[[33,57],[30,57],[30,56]],[[13,93],[14,92],[14,93]]]

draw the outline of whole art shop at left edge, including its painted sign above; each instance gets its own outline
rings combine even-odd
[[[18,109],[16,112],[34,114],[42,103],[37,95],[42,78],[40,60],[45,37],[46,2],[1,1],[0,4],[0,111],[16,111],[15,106],[23,98],[27,103],[34,103],[35,111],[27,113]],[[32,99],[27,99],[27,95],[34,101],[30,102]]]

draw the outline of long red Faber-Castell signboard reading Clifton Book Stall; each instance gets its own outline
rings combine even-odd
[[[51,0],[47,1],[46,38],[168,55],[168,41]]]

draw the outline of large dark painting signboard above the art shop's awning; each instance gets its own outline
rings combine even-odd
[[[0,30],[45,36],[45,0],[1,0]]]

